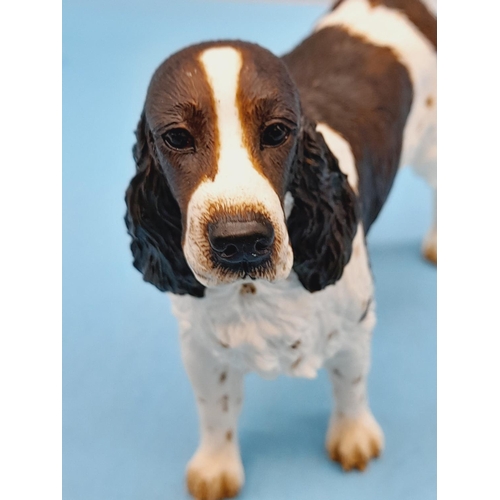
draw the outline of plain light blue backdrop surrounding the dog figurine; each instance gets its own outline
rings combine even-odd
[[[123,201],[154,69],[173,51],[241,38],[283,53],[318,5],[95,0],[63,4],[63,496],[183,500],[198,425],[168,298],[133,269]],[[36,82],[36,76],[34,76]],[[369,237],[378,323],[370,399],[386,451],[364,473],[327,460],[331,409],[314,381],[250,375],[240,425],[259,500],[436,497],[436,269],[420,257],[431,193],[409,169]]]

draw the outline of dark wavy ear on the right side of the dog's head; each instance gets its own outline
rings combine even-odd
[[[351,258],[359,208],[337,159],[306,119],[289,191],[294,199],[287,220],[293,269],[304,288],[316,292],[342,276]]]

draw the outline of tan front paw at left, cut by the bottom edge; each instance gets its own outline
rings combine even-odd
[[[196,500],[221,500],[238,494],[245,475],[237,453],[198,451],[188,464],[186,481]]]

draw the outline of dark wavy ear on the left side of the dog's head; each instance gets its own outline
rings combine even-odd
[[[194,277],[182,251],[181,212],[156,158],[144,112],[135,135],[136,175],[125,195],[134,267],[162,292],[203,297],[205,287]]]

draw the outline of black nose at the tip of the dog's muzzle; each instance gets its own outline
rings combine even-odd
[[[225,221],[208,225],[208,240],[216,258],[227,264],[260,264],[271,253],[274,230],[270,222]]]

